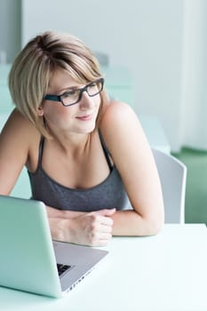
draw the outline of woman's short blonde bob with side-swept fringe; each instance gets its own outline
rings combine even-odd
[[[37,116],[57,69],[65,69],[78,83],[89,83],[100,78],[100,65],[85,44],[65,33],[44,32],[34,37],[20,52],[12,64],[9,88],[16,108],[26,116],[38,131],[49,138],[43,117]],[[100,93],[100,111],[107,99]],[[97,123],[100,120],[100,112]]]

